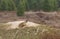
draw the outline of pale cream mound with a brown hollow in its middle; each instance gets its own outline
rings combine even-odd
[[[19,28],[25,28],[25,27],[37,27],[39,24],[34,22],[25,22],[25,21],[13,21],[13,22],[7,22],[6,25],[10,26],[4,26],[5,30],[12,30],[12,29],[19,29]],[[3,28],[3,27],[2,27]]]

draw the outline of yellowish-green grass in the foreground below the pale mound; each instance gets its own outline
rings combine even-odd
[[[0,39],[60,39],[60,29],[46,25],[8,31],[0,29]]]

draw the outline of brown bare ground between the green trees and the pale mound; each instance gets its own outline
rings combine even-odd
[[[9,21],[28,20],[39,24],[47,24],[60,28],[60,13],[58,12],[25,12],[17,16],[15,11],[0,12],[0,23]]]

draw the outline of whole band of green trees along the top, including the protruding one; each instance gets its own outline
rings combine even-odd
[[[16,11],[22,16],[24,11],[56,11],[58,0],[0,0],[0,11]]]

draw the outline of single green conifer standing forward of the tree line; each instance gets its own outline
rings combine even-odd
[[[24,11],[26,9],[25,3],[26,3],[26,0],[20,0],[19,4],[17,6],[17,15],[18,16],[24,15]]]

